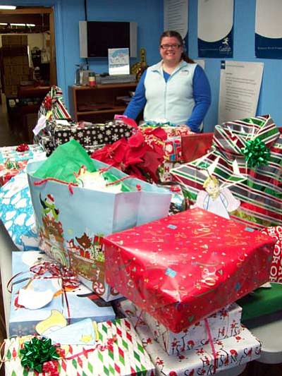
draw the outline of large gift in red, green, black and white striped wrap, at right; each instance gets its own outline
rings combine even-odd
[[[269,148],[270,160],[250,168],[242,150],[254,138]],[[221,188],[229,188],[241,202],[238,210],[229,213],[231,219],[254,229],[282,224],[282,135],[271,116],[216,126],[209,153],[170,171],[173,180],[184,184],[191,204],[204,189],[208,167],[212,167],[212,175],[218,178]]]

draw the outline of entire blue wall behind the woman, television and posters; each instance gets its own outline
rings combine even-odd
[[[189,1],[188,53],[199,59],[197,53],[197,0]],[[264,74],[257,114],[271,114],[282,126],[282,61],[255,58],[255,0],[234,0],[234,54],[235,61],[262,61]],[[78,21],[85,20],[84,0],[0,0],[0,4],[44,5],[55,8],[56,59],[58,85],[62,87],[68,104],[68,85],[73,85],[75,64],[85,62],[79,57]],[[137,22],[138,45],[147,51],[147,62],[159,59],[159,35],[163,31],[163,0],[88,0],[88,20],[132,20]],[[99,36],[97,36],[99,37]],[[135,63],[137,59],[130,59]],[[90,68],[108,71],[106,59],[89,59]],[[204,120],[205,131],[213,131],[217,123],[220,59],[205,59],[205,71],[212,86],[212,105]]]

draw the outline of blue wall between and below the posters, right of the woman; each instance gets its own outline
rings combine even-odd
[[[234,0],[234,52],[235,61],[262,61],[264,73],[259,95],[257,115],[271,114],[274,122],[282,126],[282,61],[255,58],[255,0]],[[197,52],[197,0],[189,0],[188,51],[192,59]],[[220,59],[205,59],[205,71],[212,86],[212,105],[204,119],[204,130],[213,131],[217,123],[219,102]],[[235,119],[234,119],[235,120]]]

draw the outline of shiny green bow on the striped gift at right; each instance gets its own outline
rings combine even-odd
[[[258,137],[247,140],[245,147],[242,147],[241,151],[245,155],[245,160],[251,168],[269,164],[269,148],[265,145],[264,141],[260,140]]]

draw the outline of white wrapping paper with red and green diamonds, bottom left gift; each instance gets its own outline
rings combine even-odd
[[[154,376],[154,365],[129,320],[98,323],[97,332],[99,341],[95,346],[62,346],[66,355],[58,363],[60,376]],[[5,375],[50,376],[50,372],[27,371],[20,364],[18,353],[24,341],[30,341],[30,338],[17,336],[6,339]],[[95,348],[94,351],[87,352],[91,348]]]

